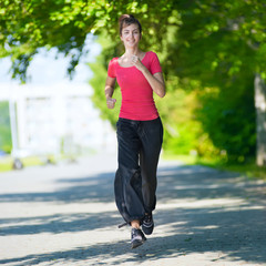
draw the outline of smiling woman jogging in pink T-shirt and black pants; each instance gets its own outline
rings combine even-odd
[[[131,244],[135,248],[146,239],[143,232],[151,235],[154,227],[152,212],[156,204],[156,171],[163,126],[153,92],[163,98],[165,85],[156,53],[139,49],[142,27],[132,14],[121,16],[120,38],[125,52],[109,63],[105,96],[108,108],[113,109],[116,100],[112,95],[117,80],[122,105],[116,123],[119,168],[114,193],[125,224],[132,226]]]

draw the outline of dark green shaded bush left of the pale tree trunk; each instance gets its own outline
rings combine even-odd
[[[200,95],[202,108],[196,115],[222,154],[226,154],[228,161],[243,163],[255,155],[254,93],[250,86],[236,93],[232,90],[234,88],[206,88]]]

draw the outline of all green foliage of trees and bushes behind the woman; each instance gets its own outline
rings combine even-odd
[[[93,101],[113,125],[119,104],[106,109],[106,69],[123,53],[117,18],[134,13],[144,29],[141,48],[157,52],[165,74],[167,95],[156,99],[164,150],[238,162],[254,156],[253,81],[255,73],[266,79],[264,1],[0,0],[0,57],[12,57],[13,76],[23,82],[39,48],[71,54],[71,75],[86,53],[86,34],[100,35],[103,52],[90,64]]]

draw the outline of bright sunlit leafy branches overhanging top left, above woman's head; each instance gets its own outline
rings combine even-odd
[[[12,76],[25,82],[27,69],[39,49],[57,48],[59,53],[71,54],[71,76],[80,57],[88,52],[83,49],[86,34],[108,30],[115,35],[117,18],[124,12],[137,13],[149,24],[144,43],[160,43],[156,39],[166,27],[167,4],[145,0],[139,7],[137,1],[126,0],[0,0],[0,57],[11,55]]]

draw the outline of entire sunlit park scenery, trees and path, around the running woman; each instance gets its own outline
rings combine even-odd
[[[113,195],[119,85],[113,110],[104,94],[124,13],[166,88],[155,229],[135,250]],[[0,265],[266,265],[265,13],[263,0],[0,0]]]

